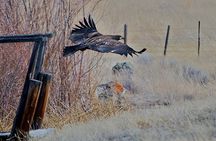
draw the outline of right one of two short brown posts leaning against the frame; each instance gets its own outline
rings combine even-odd
[[[51,75],[47,73],[39,73],[38,79],[42,81],[42,87],[38,99],[37,108],[32,123],[32,129],[41,128],[44,114],[48,103],[49,91],[51,86]]]

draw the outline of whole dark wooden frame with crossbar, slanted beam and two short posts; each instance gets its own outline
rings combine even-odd
[[[26,140],[30,128],[41,128],[49,96],[51,75],[41,72],[46,43],[52,33],[0,36],[0,43],[34,42],[30,63],[13,127],[1,140]]]

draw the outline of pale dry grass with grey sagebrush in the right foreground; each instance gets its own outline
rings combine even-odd
[[[106,64],[109,61],[116,59],[107,58]],[[146,53],[130,62],[138,90],[129,97],[133,110],[108,119],[67,125],[32,140],[215,140],[215,71]],[[109,75],[107,69],[104,72]]]

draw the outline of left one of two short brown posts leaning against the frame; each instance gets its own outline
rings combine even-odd
[[[24,113],[22,115],[22,118],[20,119],[20,126],[16,127],[16,138],[18,139],[27,138],[37,107],[41,85],[41,81],[35,79],[29,80],[28,96],[24,108]]]

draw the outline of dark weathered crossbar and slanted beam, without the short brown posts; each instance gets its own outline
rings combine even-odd
[[[29,112],[29,114],[32,117],[31,116],[26,117],[25,115],[26,105],[29,103],[29,100],[28,100],[29,95],[30,95],[29,93],[31,93],[30,91],[33,91],[32,90],[33,88],[31,87],[33,87],[34,85],[37,85],[37,82],[32,82],[32,81],[38,78],[38,74],[42,69],[42,64],[43,64],[44,54],[45,54],[45,49],[46,49],[45,48],[46,42],[48,38],[51,38],[52,36],[53,36],[52,33],[0,36],[0,43],[14,43],[14,42],[34,42],[35,43],[34,48],[32,50],[32,55],[30,58],[30,63],[29,63],[27,75],[25,78],[24,87],[23,87],[21,98],[20,98],[19,106],[17,108],[16,116],[14,118],[10,138],[17,137],[19,133],[23,131],[25,132],[25,130],[29,130],[28,128],[30,128],[31,126],[31,122],[32,122],[31,118],[33,118],[34,116],[33,115],[34,111],[33,113]],[[37,81],[37,80],[34,80],[34,81]],[[35,83],[35,84],[32,84],[32,83]],[[36,88],[34,89],[35,89],[34,91],[36,91]],[[38,91],[40,91],[40,88]],[[28,120],[29,118],[30,120]],[[28,126],[26,122],[28,123]]]

